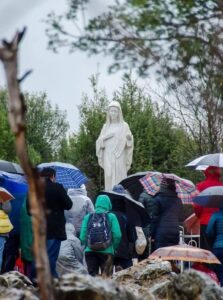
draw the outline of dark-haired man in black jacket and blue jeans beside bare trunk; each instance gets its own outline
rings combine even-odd
[[[58,277],[56,261],[61,241],[66,240],[64,210],[71,209],[73,202],[64,187],[55,182],[56,172],[52,168],[44,168],[40,175],[46,178],[45,199],[47,206],[47,254],[53,277]]]

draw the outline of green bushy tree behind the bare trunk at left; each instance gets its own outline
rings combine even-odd
[[[57,106],[53,107],[44,93],[26,93],[25,102],[29,157],[34,164],[53,160],[61,141],[66,138],[66,115]],[[14,137],[8,124],[7,92],[3,88],[0,89],[0,119],[0,158],[16,161]]]

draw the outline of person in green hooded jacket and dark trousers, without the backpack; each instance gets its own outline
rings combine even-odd
[[[86,215],[82,222],[80,240],[85,246],[85,259],[88,273],[92,276],[98,275],[99,269],[101,269],[101,274],[103,276],[110,276],[112,274],[114,254],[119,246],[122,234],[117,217],[113,213],[109,212],[111,209],[112,204],[108,196],[100,195],[97,197],[95,203],[95,213],[108,213],[108,222],[111,229],[112,242],[106,249],[96,251],[88,247],[87,227],[91,214]]]

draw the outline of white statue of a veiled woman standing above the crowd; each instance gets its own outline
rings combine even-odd
[[[133,135],[123,120],[121,106],[117,101],[112,101],[108,106],[106,123],[96,141],[96,155],[104,169],[106,190],[111,190],[127,176],[133,148]]]

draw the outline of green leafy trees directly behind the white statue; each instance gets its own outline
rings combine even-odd
[[[91,78],[93,98],[84,96],[79,107],[81,124],[78,133],[63,147],[70,162],[80,167],[94,183],[94,192],[103,188],[103,171],[99,168],[95,142],[105,122],[108,98],[97,88],[97,77]],[[186,132],[177,127],[165,107],[152,103],[150,97],[130,77],[114,93],[123,116],[134,136],[134,157],[130,173],[145,170],[189,175],[183,166],[195,153],[187,142]],[[68,147],[67,147],[68,146]],[[63,152],[64,155],[64,152]]]

